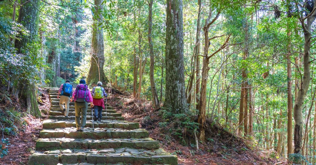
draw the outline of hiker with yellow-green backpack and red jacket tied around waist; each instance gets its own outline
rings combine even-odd
[[[107,94],[102,87],[102,82],[98,82],[97,86],[92,89],[93,96],[93,110],[94,110],[94,121],[100,121],[102,118],[102,109],[104,109],[104,97],[107,97]]]

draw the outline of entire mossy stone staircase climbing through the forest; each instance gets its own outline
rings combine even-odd
[[[178,164],[177,156],[159,148],[159,141],[149,138],[147,130],[125,121],[109,104],[101,122],[94,121],[94,130],[89,104],[86,127],[76,131],[74,102],[70,102],[68,117],[63,116],[57,92],[58,88],[49,90],[49,117],[43,122],[29,165]]]

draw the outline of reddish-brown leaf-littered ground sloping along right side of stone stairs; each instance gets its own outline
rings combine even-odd
[[[219,149],[210,144],[200,144],[199,151],[195,146],[184,146],[179,140],[166,140],[166,134],[162,133],[159,122],[162,118],[159,111],[154,111],[149,101],[140,101],[134,99],[133,96],[109,96],[108,103],[114,107],[118,113],[122,113],[125,120],[131,122],[139,122],[142,128],[149,131],[149,136],[153,139],[161,141],[161,148],[169,153],[178,156],[180,165],[265,165],[265,164],[281,164],[286,165],[286,159],[272,159],[270,155],[273,151],[254,149],[246,149],[245,151],[232,151],[231,149]],[[229,135],[231,135],[229,133]],[[247,140],[238,138],[241,143],[247,143]],[[230,144],[227,144],[230,145]],[[243,144],[245,145],[245,144]],[[250,144],[252,145],[252,144]]]

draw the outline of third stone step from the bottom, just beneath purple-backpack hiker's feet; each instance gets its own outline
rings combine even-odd
[[[43,129],[40,131],[41,138],[73,138],[73,139],[128,139],[148,138],[146,129],[118,129],[118,128],[92,128],[86,127],[83,131],[76,131],[76,128]]]

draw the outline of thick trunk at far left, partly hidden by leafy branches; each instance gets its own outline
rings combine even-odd
[[[21,0],[21,3],[23,5],[20,7],[18,22],[29,30],[30,35],[24,36],[21,33],[19,34],[18,38],[21,38],[21,40],[15,40],[15,47],[18,53],[24,53],[23,48],[27,48],[28,44],[38,39],[40,14],[38,11],[40,0]],[[35,82],[31,82],[28,79],[24,80],[21,89],[23,90],[22,97],[25,99],[27,112],[37,118],[42,117],[37,104]]]

